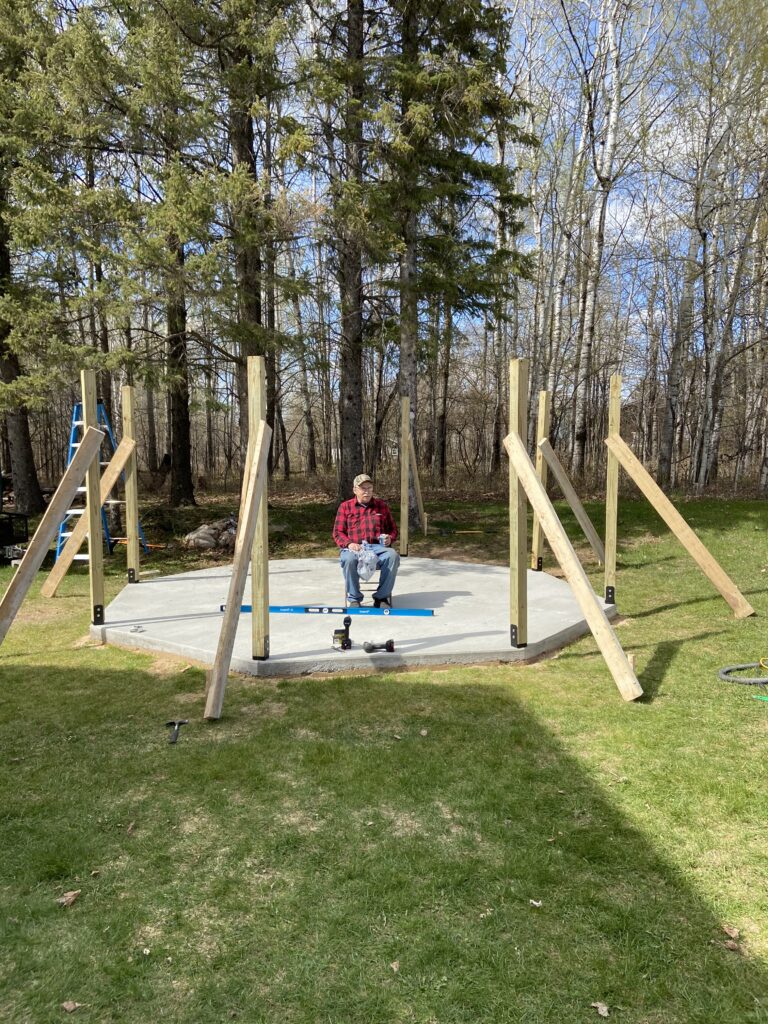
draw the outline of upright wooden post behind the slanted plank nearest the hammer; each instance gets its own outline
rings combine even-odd
[[[248,459],[253,466],[256,435],[266,420],[266,364],[263,355],[248,357]],[[244,481],[245,482],[245,481]],[[251,551],[252,656],[255,662],[269,657],[269,532],[267,518],[267,480],[259,500],[256,532]]]

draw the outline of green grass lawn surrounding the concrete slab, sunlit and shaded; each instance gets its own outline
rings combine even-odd
[[[332,507],[275,500],[273,547],[330,553]],[[34,593],[0,648],[0,1020],[71,999],[126,1024],[559,1024],[598,1001],[627,1024],[768,1021],[768,705],[717,679],[768,654],[768,511],[681,510],[758,615],[734,621],[623,502],[632,705],[585,638],[527,668],[232,677],[205,723],[199,669],[84,639],[85,577]],[[412,551],[503,560],[505,516],[445,502]]]

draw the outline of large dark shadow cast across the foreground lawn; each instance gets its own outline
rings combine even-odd
[[[1,668],[0,1010],[554,1024],[599,1001],[625,1024],[765,1020],[766,973],[724,948],[658,838],[482,679],[231,681],[211,726],[198,672]]]

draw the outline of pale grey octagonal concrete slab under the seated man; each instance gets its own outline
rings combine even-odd
[[[231,569],[216,567],[146,578],[127,585],[109,605],[94,637],[119,646],[167,651],[212,666]],[[269,562],[272,605],[333,605],[344,588],[335,558]],[[244,602],[250,604],[250,578]],[[371,601],[369,600],[369,604]],[[509,570],[498,565],[403,558],[394,593],[396,608],[432,608],[432,617],[352,617],[353,647],[332,647],[341,614],[270,614],[270,656],[251,657],[251,616],[238,626],[231,669],[255,676],[293,676],[395,666],[525,662],[588,632],[570,588],[546,572],[528,572],[528,645],[509,643]],[[613,605],[603,607],[610,616]],[[393,653],[366,654],[362,643],[392,639]]]

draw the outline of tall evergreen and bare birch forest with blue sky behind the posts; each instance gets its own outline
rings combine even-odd
[[[33,513],[78,372],[174,506],[270,471],[505,472],[509,359],[600,489],[610,375],[670,489],[768,495],[761,0],[0,0],[0,453]]]

